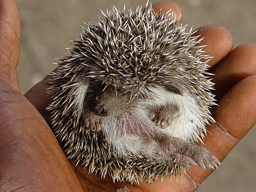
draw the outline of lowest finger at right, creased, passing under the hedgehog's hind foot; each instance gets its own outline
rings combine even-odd
[[[214,117],[216,123],[209,127],[205,147],[222,161],[232,148],[249,132],[256,122],[256,75],[247,77],[234,86],[220,101]],[[191,183],[197,186],[212,169],[191,167],[187,172]]]

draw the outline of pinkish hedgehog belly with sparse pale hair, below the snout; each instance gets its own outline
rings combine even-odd
[[[170,162],[168,155],[154,140],[157,136],[152,135],[158,131],[161,132],[160,127],[136,110],[106,119],[102,129],[118,158],[141,156],[152,159],[152,162]]]

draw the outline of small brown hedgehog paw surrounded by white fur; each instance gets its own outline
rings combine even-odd
[[[158,109],[151,117],[151,120],[157,126],[166,128],[170,126],[178,112],[178,106],[174,104],[168,104]]]

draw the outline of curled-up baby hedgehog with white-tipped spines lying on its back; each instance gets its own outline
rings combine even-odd
[[[69,158],[113,181],[151,183],[220,162],[202,142],[215,99],[199,36],[173,12],[103,13],[53,73],[56,137]]]

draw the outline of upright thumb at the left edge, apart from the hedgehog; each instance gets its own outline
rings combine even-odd
[[[19,92],[16,67],[19,59],[20,24],[13,0],[0,0],[1,89]]]

